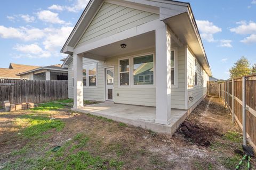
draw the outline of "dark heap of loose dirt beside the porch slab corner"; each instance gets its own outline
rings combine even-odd
[[[179,132],[182,133],[188,141],[205,147],[211,145],[210,141],[213,134],[216,134],[214,130],[199,127],[189,121],[185,121],[180,125]]]

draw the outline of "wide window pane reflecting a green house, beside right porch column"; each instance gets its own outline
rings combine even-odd
[[[142,77],[143,81],[141,81]],[[153,55],[133,58],[133,84],[154,84]]]

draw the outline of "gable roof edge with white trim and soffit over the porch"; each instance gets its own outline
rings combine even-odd
[[[89,27],[94,15],[99,11],[103,2],[105,1],[89,1],[73,31],[71,31],[66,40],[66,43],[63,45],[61,53],[73,55],[73,49]],[[171,0],[106,0],[106,2],[111,2],[113,4],[119,3],[123,4],[123,6],[133,5],[134,8],[143,7],[144,9],[147,8],[147,10],[151,9],[156,13],[158,12],[160,21],[169,25],[174,38],[177,38],[184,45],[188,45],[192,52],[199,58],[199,62],[202,64],[206,73],[210,76],[212,75],[196,20],[189,3]]]

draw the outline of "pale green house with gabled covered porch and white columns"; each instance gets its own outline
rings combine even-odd
[[[74,108],[154,106],[165,125],[171,108],[195,108],[212,75],[191,6],[177,1],[91,0],[61,52]]]

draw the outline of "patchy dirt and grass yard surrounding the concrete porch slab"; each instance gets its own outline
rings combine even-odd
[[[241,133],[217,98],[205,98],[172,137],[44,107],[0,113],[0,169],[235,169],[242,158]]]

